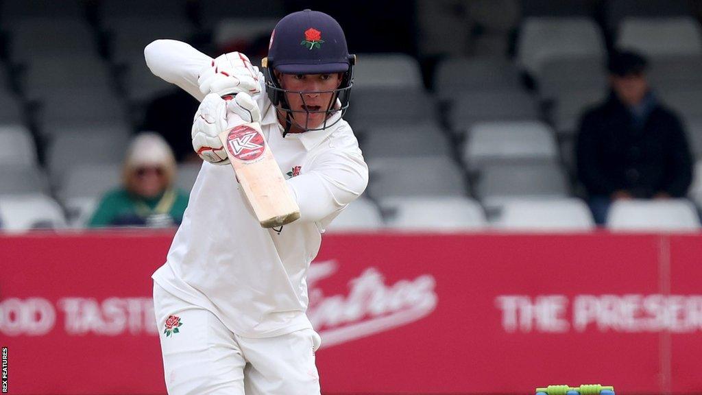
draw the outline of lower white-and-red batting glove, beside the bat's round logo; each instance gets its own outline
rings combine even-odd
[[[192,148],[197,155],[213,164],[228,164],[227,152],[219,134],[227,129],[227,118],[239,117],[241,123],[260,122],[258,105],[248,93],[237,93],[230,100],[210,93],[200,103],[192,122]]]

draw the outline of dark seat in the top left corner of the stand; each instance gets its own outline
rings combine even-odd
[[[97,51],[93,32],[83,20],[37,17],[4,22],[11,37],[10,58],[15,62],[32,63],[35,56]]]

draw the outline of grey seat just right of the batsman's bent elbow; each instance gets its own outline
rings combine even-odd
[[[369,160],[369,194],[396,196],[467,195],[465,177],[449,157],[391,157]]]

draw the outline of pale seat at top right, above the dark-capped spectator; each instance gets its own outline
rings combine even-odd
[[[702,34],[691,17],[625,18],[619,26],[617,45],[647,56],[702,55]]]

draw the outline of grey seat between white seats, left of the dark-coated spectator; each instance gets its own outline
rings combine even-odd
[[[556,162],[486,164],[475,195],[483,203],[503,197],[566,197],[568,181]]]

